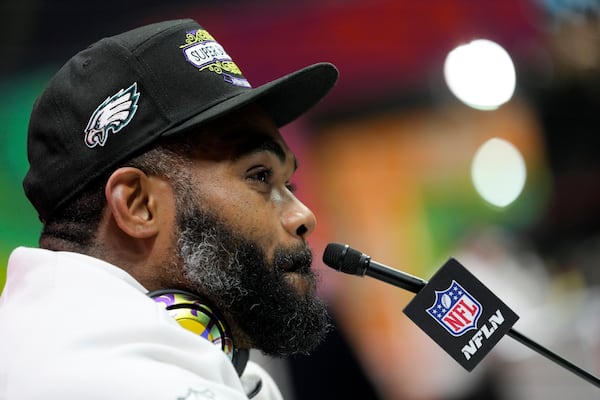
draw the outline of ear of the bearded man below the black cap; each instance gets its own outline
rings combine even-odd
[[[107,207],[127,235],[145,239],[158,234],[156,184],[155,179],[133,167],[119,168],[108,178]]]

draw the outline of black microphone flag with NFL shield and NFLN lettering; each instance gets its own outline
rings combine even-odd
[[[403,311],[467,371],[473,370],[519,319],[454,258]]]

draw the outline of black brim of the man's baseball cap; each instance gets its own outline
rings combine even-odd
[[[313,64],[201,111],[168,128],[162,136],[186,131],[256,102],[262,105],[278,127],[282,127],[317,104],[331,90],[337,78],[338,70],[332,64]]]

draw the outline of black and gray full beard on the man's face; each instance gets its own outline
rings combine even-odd
[[[178,252],[186,286],[232,318],[253,347],[265,354],[288,356],[313,350],[330,323],[326,305],[314,295],[310,249],[278,248],[269,262],[257,244],[229,229],[216,215],[187,208],[178,215]],[[285,268],[308,279],[310,293],[302,295],[290,285],[282,272]]]

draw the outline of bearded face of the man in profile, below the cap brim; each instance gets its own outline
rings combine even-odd
[[[306,242],[315,218],[291,190],[295,158],[256,109],[228,121],[201,133],[190,182],[179,183],[182,284],[210,299],[248,345],[306,353],[325,335],[328,316],[315,297]]]

